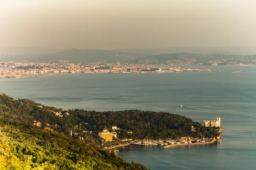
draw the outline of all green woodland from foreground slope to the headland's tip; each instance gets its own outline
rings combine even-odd
[[[33,125],[35,121],[40,122],[41,127]],[[121,128],[116,131],[119,139],[218,136],[217,128],[204,127],[172,113],[63,111],[0,94],[0,167],[8,170],[146,170],[139,163],[127,163],[99,147],[102,140],[97,133],[113,125]],[[197,132],[191,132],[192,125]],[[84,140],[72,138],[70,130],[79,133]]]

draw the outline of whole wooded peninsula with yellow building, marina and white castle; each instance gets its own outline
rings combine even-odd
[[[0,120],[12,125],[34,125],[64,133],[94,146],[161,142],[187,144],[211,142],[220,136],[221,127],[201,125],[178,114],[140,110],[87,111],[44,106],[29,99],[13,99],[0,94]],[[198,140],[198,141],[197,141]],[[176,142],[176,143],[175,143]],[[180,142],[180,143],[179,143]]]

